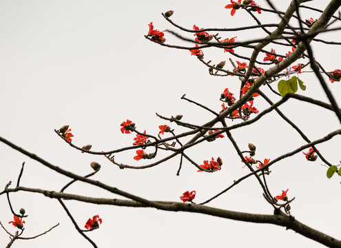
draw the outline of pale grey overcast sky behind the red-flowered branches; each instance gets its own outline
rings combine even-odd
[[[267,8],[266,1],[257,2]],[[290,1],[276,1],[278,9],[285,11]],[[90,163],[96,161],[102,168],[93,178],[149,200],[180,201],[179,196],[196,190],[197,202],[207,200],[225,189],[234,180],[248,173],[240,158],[225,137],[213,143],[203,143],[189,154],[202,164],[220,156],[223,167],[213,174],[197,173],[196,167],[184,161],[180,176],[176,176],[180,158],[151,169],[118,169],[106,158],[72,149],[54,129],[70,125],[72,143],[83,146],[92,144],[94,151],[107,151],[132,145],[134,134],[121,134],[120,124],[126,119],[136,123],[139,131],[158,133],[158,125],[170,125],[179,134],[185,131],[174,123],[167,123],[163,116],[183,114],[183,121],[198,125],[214,116],[196,105],[180,99],[187,94],[219,112],[220,94],[228,87],[238,95],[238,77],[209,76],[205,65],[187,50],[161,47],[149,42],[144,35],[148,23],[153,21],[157,30],[174,30],[161,12],[174,10],[172,20],[192,28],[231,28],[256,25],[243,10],[231,17],[224,7],[229,1],[0,1],[0,136],[33,152],[50,163],[79,175],[92,172]],[[326,1],[313,1],[314,7],[324,8]],[[256,14],[264,23],[278,23],[274,14]],[[319,14],[304,11],[302,17],[317,19]],[[296,24],[296,23],[293,23]],[[337,25],[334,25],[337,26]],[[215,34],[214,32],[211,32]],[[193,34],[184,34],[194,39]],[[223,39],[236,37],[236,41],[265,37],[261,30],[220,33]],[[338,41],[340,32],[323,34],[319,38]],[[179,41],[165,32],[166,43],[192,45]],[[268,50],[276,48],[269,45]],[[289,48],[290,50],[290,48]],[[250,56],[252,50],[236,48],[235,51]],[[285,54],[286,48],[276,48]],[[313,43],[316,59],[327,71],[340,68],[340,48]],[[238,60],[223,50],[204,50],[205,61],[211,63]],[[262,60],[265,54],[260,54]],[[302,63],[306,61],[302,60]],[[231,70],[231,64],[226,63]],[[265,68],[266,69],[266,68]],[[307,70],[311,70],[308,68]],[[340,101],[341,83],[330,83],[335,98]],[[304,94],[328,102],[322,87],[313,74],[301,74],[307,85]],[[273,83],[277,88],[277,83]],[[264,88],[273,101],[280,98]],[[262,111],[269,107],[260,99],[254,105]],[[289,100],[280,107],[311,141],[322,138],[340,128],[333,112]],[[231,121],[227,121],[231,125]],[[238,121],[234,121],[237,123]],[[276,113],[267,114],[255,125],[231,132],[240,149],[247,143],[257,146],[256,159],[276,158],[304,145],[302,138],[282,121]],[[165,134],[168,136],[169,134]],[[339,137],[318,145],[320,152],[331,163],[340,161]],[[152,149],[147,149],[147,152]],[[115,156],[116,161],[129,165],[145,165],[150,161],[134,161],[135,151]],[[160,152],[156,159],[167,155]],[[25,171],[21,185],[59,191],[70,181],[43,165],[23,156],[0,143],[0,187],[12,180],[17,182],[21,164]],[[340,238],[338,209],[341,200],[340,179],[328,180],[327,168],[320,159],[308,162],[302,153],[273,165],[268,184],[273,195],[288,189],[291,214],[302,223],[335,238]],[[96,187],[75,183],[67,192],[85,196],[120,198]],[[74,229],[70,219],[57,200],[39,194],[10,194],[16,211],[21,207],[29,215],[25,219],[23,236],[37,235],[56,223],[59,227],[34,240],[16,241],[13,247],[91,247]],[[77,223],[84,227],[88,218],[99,214],[101,227],[89,234],[99,247],[322,247],[293,231],[274,225],[242,223],[203,214],[166,212],[156,209],[131,209],[127,207],[98,206],[75,201],[65,201]],[[6,196],[0,197],[0,220],[8,230],[12,214]],[[245,180],[231,191],[209,203],[234,211],[255,214],[272,214],[272,207],[262,196],[254,178]],[[8,234],[0,230],[0,246],[9,242]]]

